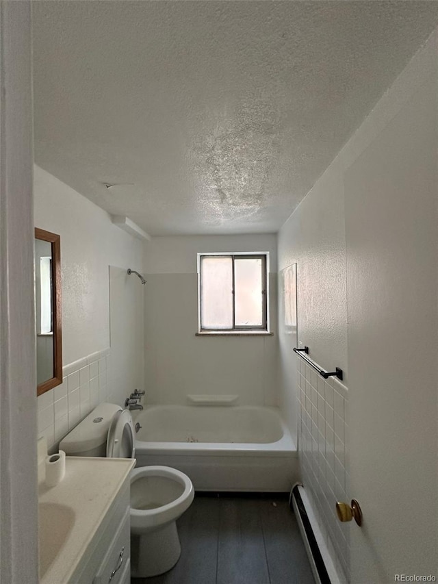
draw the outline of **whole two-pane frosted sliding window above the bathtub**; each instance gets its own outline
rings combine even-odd
[[[199,333],[268,332],[268,253],[198,253]]]

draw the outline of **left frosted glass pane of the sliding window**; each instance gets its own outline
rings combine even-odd
[[[201,323],[203,329],[233,328],[233,262],[231,257],[203,257]]]

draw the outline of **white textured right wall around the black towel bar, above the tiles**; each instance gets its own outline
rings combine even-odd
[[[324,368],[346,371],[346,275],[342,176],[326,171],[279,231],[279,271],[297,264],[298,342]],[[290,335],[279,329],[279,392],[296,432],[296,374]]]

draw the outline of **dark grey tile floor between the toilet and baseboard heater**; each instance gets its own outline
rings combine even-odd
[[[132,584],[313,584],[294,513],[283,496],[196,495],[178,522],[181,557]]]

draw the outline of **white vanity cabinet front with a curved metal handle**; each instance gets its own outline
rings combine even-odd
[[[126,581],[126,565],[130,554],[129,509],[103,558],[93,584],[121,584]],[[129,566],[128,566],[129,569]],[[129,571],[128,571],[129,574]]]

